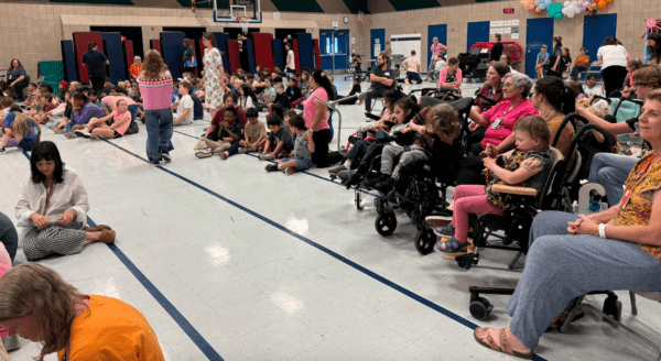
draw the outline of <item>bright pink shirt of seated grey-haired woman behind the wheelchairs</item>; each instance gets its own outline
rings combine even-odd
[[[540,113],[528,99],[521,101],[514,109],[508,110],[510,106],[509,100],[503,100],[481,113],[489,121],[489,128],[481,141],[483,149],[487,149],[489,143],[494,145],[502,143],[512,133],[514,123],[519,119]]]

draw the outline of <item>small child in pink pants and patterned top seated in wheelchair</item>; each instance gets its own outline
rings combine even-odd
[[[487,187],[481,185],[462,185],[454,192],[453,217],[427,217],[427,222],[435,226],[445,222],[447,226],[435,229],[435,232],[449,237],[436,243],[438,252],[454,254],[465,251],[468,242],[469,214],[498,214],[508,209],[509,197],[492,190],[494,185],[511,185],[530,187],[542,192],[551,172],[553,151],[549,147],[551,133],[546,122],[538,116],[525,117],[517,122],[513,134],[517,149],[497,156],[490,146],[485,166]],[[433,220],[431,219],[433,218]]]

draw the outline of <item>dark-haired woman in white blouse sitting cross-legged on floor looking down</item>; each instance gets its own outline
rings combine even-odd
[[[115,242],[110,227],[85,227],[87,190],[78,174],[64,165],[55,143],[37,143],[32,149],[30,167],[15,208],[19,225],[29,227],[23,240],[29,261],[80,253],[86,241]]]

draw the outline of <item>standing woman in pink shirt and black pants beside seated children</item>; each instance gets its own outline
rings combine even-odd
[[[303,103],[303,118],[307,132],[312,134],[312,140],[315,144],[314,153],[312,153],[312,163],[319,168],[328,166],[328,142],[330,135],[330,125],[328,124],[328,107],[318,101],[318,97],[323,101],[333,100],[333,87],[330,80],[326,77],[326,73],[322,69],[312,70],[310,76],[310,97]]]

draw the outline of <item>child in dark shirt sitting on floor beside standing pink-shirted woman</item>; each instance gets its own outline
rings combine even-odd
[[[314,153],[312,131],[307,131],[305,120],[299,114],[292,116],[286,124],[291,132],[296,134],[294,150],[291,152],[291,157],[278,161],[278,164],[267,165],[267,172],[282,169],[284,173],[291,175],[312,167],[312,153]]]

